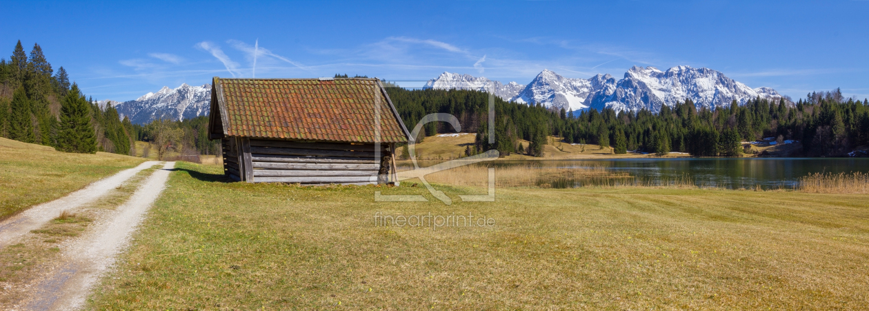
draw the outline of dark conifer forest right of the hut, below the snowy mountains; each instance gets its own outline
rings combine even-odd
[[[488,149],[498,149],[505,156],[514,152],[542,156],[547,136],[613,147],[617,154],[676,151],[692,156],[740,156],[741,142],[763,137],[802,142],[805,156],[845,156],[869,144],[869,101],[844,98],[839,89],[810,93],[798,103],[755,98],[744,105],[733,101],[729,107],[714,109],[698,108],[686,99],[657,113],[647,109],[556,111],[495,97],[494,143],[488,142],[488,93],[401,88],[388,88],[388,93],[408,127],[430,113],[456,116],[462,131],[477,133],[474,148],[466,150],[468,156]],[[454,129],[436,122],[427,124],[423,132],[432,136]]]

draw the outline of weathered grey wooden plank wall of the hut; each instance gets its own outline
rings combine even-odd
[[[288,142],[228,137],[222,140],[224,171],[243,182],[373,184],[394,180],[390,146],[337,142]]]

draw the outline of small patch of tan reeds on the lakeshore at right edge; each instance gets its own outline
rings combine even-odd
[[[869,174],[815,173],[799,178],[797,189],[808,193],[869,194]]]

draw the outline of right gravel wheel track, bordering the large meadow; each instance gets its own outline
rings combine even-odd
[[[75,310],[82,307],[91,287],[114,262],[143,214],[166,187],[175,162],[167,162],[136,189],[114,215],[95,224],[82,239],[63,249],[60,262],[25,299],[29,310]]]

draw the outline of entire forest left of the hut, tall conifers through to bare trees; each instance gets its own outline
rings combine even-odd
[[[112,103],[100,105],[70,83],[63,67],[55,71],[38,43],[28,55],[18,41],[9,60],[0,58],[2,137],[66,152],[136,155],[136,141],[153,144],[160,136],[166,139],[157,149],[214,155],[219,149],[208,140],[207,128],[206,116],[146,125],[122,119]]]

